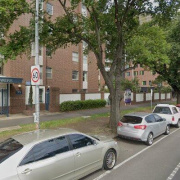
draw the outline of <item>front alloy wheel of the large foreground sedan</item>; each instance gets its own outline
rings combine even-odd
[[[112,169],[116,164],[116,152],[112,149],[109,149],[104,156],[103,167],[105,170]]]

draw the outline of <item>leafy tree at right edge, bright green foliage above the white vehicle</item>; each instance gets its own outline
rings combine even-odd
[[[180,18],[163,28],[154,23],[144,24],[138,36],[131,41],[138,44],[137,61],[157,72],[158,79],[166,81],[177,94],[180,103]],[[153,36],[156,38],[153,38]],[[130,48],[132,56],[135,54]]]

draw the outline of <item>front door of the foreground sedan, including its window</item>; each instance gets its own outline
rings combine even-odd
[[[75,157],[77,179],[102,167],[102,146],[83,134],[71,134],[69,140]]]

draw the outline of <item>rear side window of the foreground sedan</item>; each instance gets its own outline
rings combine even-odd
[[[69,144],[64,136],[35,145],[20,163],[20,166],[53,157],[69,151]]]

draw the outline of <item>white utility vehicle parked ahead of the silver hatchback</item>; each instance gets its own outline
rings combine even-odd
[[[174,105],[169,104],[158,104],[155,106],[153,113],[166,118],[169,124],[180,127],[180,112]]]

